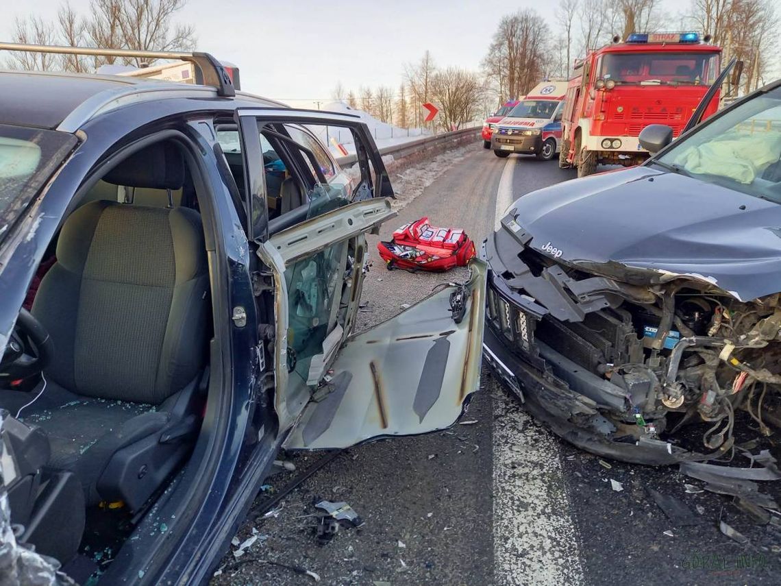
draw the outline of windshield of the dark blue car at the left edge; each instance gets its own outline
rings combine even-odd
[[[72,134],[0,124],[0,241],[74,145]]]

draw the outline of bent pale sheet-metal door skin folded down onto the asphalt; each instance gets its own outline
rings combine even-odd
[[[466,311],[451,315],[450,284],[349,338],[322,398],[305,407],[287,449],[346,448],[373,438],[450,427],[480,386],[486,267],[470,264]]]

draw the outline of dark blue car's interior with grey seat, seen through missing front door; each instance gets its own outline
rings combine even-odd
[[[0,369],[19,540],[84,581],[200,431],[213,323],[193,172],[160,141],[102,175],[50,244]]]

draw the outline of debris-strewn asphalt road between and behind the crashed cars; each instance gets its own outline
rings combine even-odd
[[[555,162],[498,159],[476,144],[396,177],[406,205],[380,238],[430,216],[480,241],[512,198],[572,177]],[[387,271],[378,259],[358,328],[463,276]],[[322,584],[375,586],[781,582],[776,527],[752,525],[727,497],[686,494],[683,483],[691,481],[676,470],[615,462],[608,469],[531,420],[485,371],[462,421],[474,423],[337,456],[273,515],[244,524],[237,542],[257,539],[242,556],[229,553],[212,584],[313,584],[304,570]],[[298,470],[269,478],[258,503],[320,457],[288,454]],[[610,480],[623,490],[613,491]],[[673,527],[646,488],[701,509],[702,522]],[[319,544],[313,503],[323,498],[348,502],[362,527],[341,527]],[[719,533],[720,514],[747,545]]]

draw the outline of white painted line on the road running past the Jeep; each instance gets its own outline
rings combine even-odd
[[[496,227],[512,203],[515,157],[501,173]],[[558,440],[498,384],[494,392],[494,584],[583,584]]]

